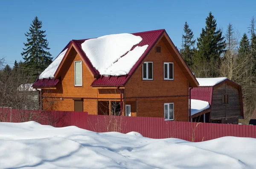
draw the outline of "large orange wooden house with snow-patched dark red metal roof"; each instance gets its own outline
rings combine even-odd
[[[92,57],[95,50],[101,48],[102,52],[108,50],[105,48],[115,47],[110,44],[120,45],[126,40],[113,42],[115,39],[110,39],[105,45],[102,45],[104,41],[97,43],[97,40],[112,35],[71,40],[33,84],[34,88],[41,89],[42,109],[189,121],[189,87],[198,87],[198,82],[166,31],[125,34],[131,35],[140,37],[141,41],[114,60],[108,69],[103,69],[102,62],[109,62],[112,58]],[[137,60],[132,59],[132,52],[140,47],[145,47],[145,51]],[[114,50],[119,48],[116,46]],[[129,64],[131,69],[119,70]],[[116,69],[120,65],[121,68]],[[52,72],[46,74],[49,70]]]

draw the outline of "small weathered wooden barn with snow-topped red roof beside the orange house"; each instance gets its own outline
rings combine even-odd
[[[193,114],[192,121],[238,124],[239,118],[244,118],[239,84],[226,77],[197,78],[197,80],[199,87],[191,89],[191,99],[203,100],[208,102],[209,106]]]

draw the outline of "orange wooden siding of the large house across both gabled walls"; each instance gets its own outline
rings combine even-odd
[[[161,46],[161,53],[155,52],[155,46],[149,52],[144,61],[153,62],[153,80],[142,80],[142,64],[125,85],[124,106],[131,105],[132,115],[145,117],[163,117],[164,103],[174,103],[175,120],[188,121],[189,110],[189,82],[183,71],[177,65],[175,59],[169,53],[162,40],[157,46]],[[80,61],[81,57],[72,47],[67,55],[57,78],[61,78],[61,83],[57,89],[45,89],[43,97],[56,97],[58,100],[53,110],[74,110],[74,100],[72,98],[84,98],[83,109],[88,114],[102,114],[104,106],[101,101],[120,100],[120,92],[116,89],[96,89],[90,85],[95,79],[87,69],[85,63],[82,65],[83,84],[74,86],[74,61]],[[164,80],[164,62],[174,63],[174,80]],[[63,100],[60,100],[63,98]],[[104,111],[108,111],[107,109]]]

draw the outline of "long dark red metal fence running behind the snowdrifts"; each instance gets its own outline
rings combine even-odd
[[[28,120],[28,110],[16,110],[5,108],[8,112],[6,120],[3,120],[3,109],[0,109],[0,120],[6,122],[20,122],[22,115]],[[23,112],[22,112],[23,111]],[[27,113],[27,114],[26,114]],[[215,123],[190,123],[165,121],[159,117],[126,117],[87,115],[87,112],[64,111],[35,111],[31,120],[44,125],[55,127],[78,126],[82,129],[94,132],[139,132],[144,137],[150,138],[180,138],[188,141],[211,140],[224,136],[253,137],[256,138],[256,126],[215,124]],[[11,118],[10,118],[11,117]],[[40,118],[38,118],[40,117]]]

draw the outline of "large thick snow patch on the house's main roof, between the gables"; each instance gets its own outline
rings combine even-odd
[[[148,45],[145,45],[130,51],[141,41],[140,36],[133,34],[110,34],[85,40],[81,47],[100,74],[119,76],[128,74],[147,49]]]

